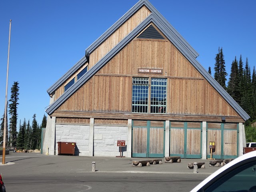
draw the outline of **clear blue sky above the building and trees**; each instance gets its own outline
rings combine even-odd
[[[41,124],[50,99],[46,90],[138,0],[1,0],[0,116],[4,114],[9,20],[12,19],[8,100],[19,82],[18,121]],[[223,48],[226,71],[234,57],[256,66],[256,1],[150,0],[199,53],[197,60],[214,73],[215,55]]]

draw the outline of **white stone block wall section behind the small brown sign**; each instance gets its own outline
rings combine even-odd
[[[127,145],[128,127],[118,126],[94,126],[94,156],[120,156],[117,140],[126,140]],[[122,156],[127,157],[127,147]]]

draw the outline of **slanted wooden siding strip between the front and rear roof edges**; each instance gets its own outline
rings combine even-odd
[[[127,36],[138,26],[151,12],[143,6],[130,19],[128,19],[116,32],[103,42],[94,52],[90,54],[90,68],[94,66],[104,55],[106,55],[116,44]]]

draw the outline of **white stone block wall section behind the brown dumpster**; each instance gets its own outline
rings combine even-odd
[[[56,124],[55,154],[58,154],[58,142],[76,142],[75,155],[89,156],[89,136],[90,126]]]

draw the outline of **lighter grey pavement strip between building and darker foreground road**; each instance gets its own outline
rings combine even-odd
[[[210,160],[181,159],[178,163],[156,164],[143,167],[132,167],[133,160],[147,160],[154,158],[118,158],[118,157],[85,157],[85,156],[46,156],[38,153],[14,153],[6,155],[5,164],[1,172],[11,174],[17,172],[40,172],[49,174],[65,172],[92,172],[92,162],[96,162],[97,172],[130,172],[130,173],[162,173],[162,174],[194,174],[193,169],[188,169],[188,163],[205,162],[205,168],[199,168],[197,174],[212,174],[220,167],[209,167]],[[2,156],[0,156],[2,162]],[[0,163],[1,164],[1,163]]]

